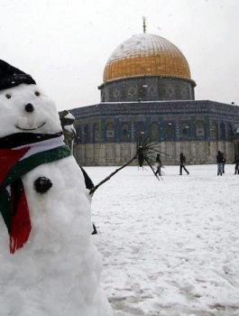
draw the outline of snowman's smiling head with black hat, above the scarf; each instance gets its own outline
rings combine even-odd
[[[1,81],[0,67],[0,137],[15,133],[59,133],[60,117],[54,102],[35,84],[31,76],[21,70],[18,74],[15,68],[13,71],[14,76],[7,74],[5,83],[6,76]]]

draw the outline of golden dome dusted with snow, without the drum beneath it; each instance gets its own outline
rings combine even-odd
[[[178,47],[150,33],[133,35],[116,48],[106,63],[104,83],[144,76],[191,80],[188,61]]]

